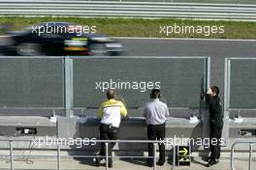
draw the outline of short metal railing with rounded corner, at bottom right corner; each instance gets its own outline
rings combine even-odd
[[[235,142],[232,147],[231,147],[231,161],[230,161],[230,166],[232,170],[236,170],[234,167],[234,151],[235,151],[235,146],[238,144],[249,144],[249,164],[248,164],[248,170],[251,169],[251,164],[252,164],[252,146],[253,144],[256,144],[256,141],[237,141]]]

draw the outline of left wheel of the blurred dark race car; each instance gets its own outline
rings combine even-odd
[[[16,45],[16,53],[21,56],[43,55],[42,46],[39,43],[22,42]]]

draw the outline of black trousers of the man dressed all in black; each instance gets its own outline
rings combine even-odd
[[[214,122],[210,122],[210,159],[218,159],[220,157],[220,138],[223,125],[216,125]],[[213,143],[212,139],[217,140],[217,143]]]

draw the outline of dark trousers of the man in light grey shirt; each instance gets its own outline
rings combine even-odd
[[[165,138],[165,124],[162,125],[148,125],[147,126],[147,138],[148,140],[164,140]],[[159,161],[165,161],[165,144],[159,143]],[[148,156],[153,156],[153,144],[148,144]],[[148,159],[152,162],[153,159]]]

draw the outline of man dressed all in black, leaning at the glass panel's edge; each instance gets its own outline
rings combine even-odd
[[[210,156],[208,167],[218,163],[220,157],[220,138],[223,128],[223,112],[220,99],[218,97],[219,88],[211,86],[207,92],[207,102],[209,111],[210,127]],[[217,142],[212,142],[217,141]]]

